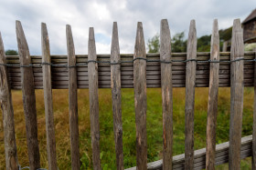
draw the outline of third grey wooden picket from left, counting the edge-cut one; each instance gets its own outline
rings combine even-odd
[[[50,63],[50,49],[48,41],[48,30],[45,23],[41,24],[42,62]],[[51,90],[51,66],[42,65],[43,87],[46,114],[47,148],[48,148],[48,169],[57,170],[56,140],[54,130],[54,115]]]

